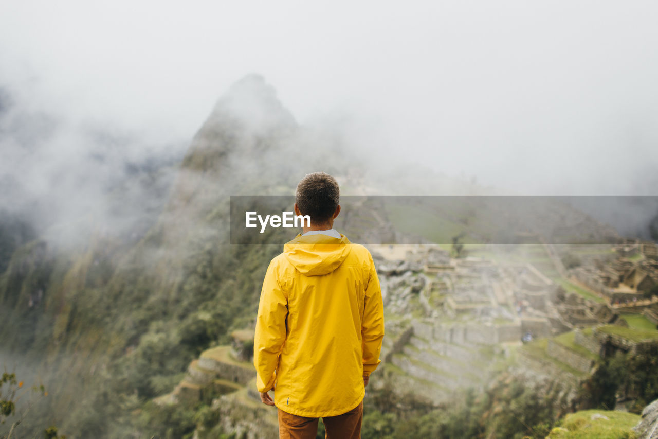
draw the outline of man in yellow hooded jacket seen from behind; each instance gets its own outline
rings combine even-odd
[[[278,407],[279,437],[361,437],[363,397],[380,363],[384,307],[370,252],[332,229],[336,179],[323,172],[297,185],[295,214],[311,217],[265,274],[256,321],[256,384]],[[274,390],[274,400],[268,391]]]

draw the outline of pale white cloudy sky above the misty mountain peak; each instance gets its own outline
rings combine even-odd
[[[653,1],[9,1],[0,86],[191,139],[260,73],[381,163],[524,193],[658,193]]]

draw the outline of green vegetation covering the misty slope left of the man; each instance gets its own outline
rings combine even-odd
[[[53,397],[31,419],[68,435],[127,437],[151,425],[133,413],[171,392],[201,351],[253,324],[262,277],[280,247],[231,246],[216,235],[163,254],[165,235],[156,227],[136,249],[99,242],[70,258],[55,258],[39,241],[14,252],[0,275],[0,311],[8,313],[0,339],[5,349],[39,351],[51,362],[42,378]],[[113,258],[119,251],[126,254]],[[168,260],[174,256],[178,262]],[[28,307],[39,289],[43,300]],[[22,436],[39,436],[39,422],[23,423]]]

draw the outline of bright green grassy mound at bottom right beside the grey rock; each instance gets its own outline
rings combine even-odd
[[[592,419],[595,414],[608,419]],[[640,415],[621,411],[584,410],[567,415],[561,427],[553,428],[549,439],[634,439],[632,428]]]

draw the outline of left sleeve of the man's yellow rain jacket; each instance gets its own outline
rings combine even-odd
[[[253,341],[253,365],[259,392],[274,388],[278,358],[286,340],[288,297],[276,278],[274,261],[270,262],[263,280]]]

